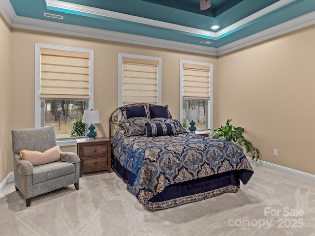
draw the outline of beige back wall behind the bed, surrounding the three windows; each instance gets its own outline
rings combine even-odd
[[[12,84],[14,84],[14,94],[12,94],[11,99],[12,107],[19,108],[12,109],[12,129],[33,127],[34,125],[34,43],[95,50],[94,108],[100,111],[101,123],[95,125],[99,137],[108,136],[108,118],[111,112],[118,107],[118,53],[140,54],[162,58],[162,103],[169,105],[169,110],[174,118],[179,118],[180,59],[209,62],[213,63],[214,67],[216,67],[218,61],[216,57],[126,43],[71,37],[24,29],[11,29],[11,32]],[[16,96],[16,94],[19,94],[19,96]],[[63,147],[62,150],[76,152],[76,146]],[[3,175],[6,176],[10,171],[12,171],[11,167],[7,168]]]

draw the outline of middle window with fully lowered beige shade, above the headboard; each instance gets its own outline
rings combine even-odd
[[[162,104],[162,59],[123,53],[118,58],[118,105]]]

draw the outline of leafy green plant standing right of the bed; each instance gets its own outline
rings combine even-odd
[[[243,151],[242,147],[245,147],[245,150],[248,154],[252,155],[252,160],[256,158],[256,161],[259,159],[259,151],[255,148],[252,143],[246,140],[243,136],[244,128],[234,127],[230,124],[232,120],[228,119],[224,126],[221,125],[221,128],[215,129],[213,139],[225,140],[231,143],[236,144]]]

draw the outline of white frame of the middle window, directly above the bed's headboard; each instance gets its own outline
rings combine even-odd
[[[162,58],[136,54],[118,53],[118,107],[123,106],[123,58],[158,61],[158,105],[162,105]]]

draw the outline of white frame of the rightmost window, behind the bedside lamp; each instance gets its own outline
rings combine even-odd
[[[206,65],[210,67],[210,72],[209,72],[209,83],[210,83],[210,100],[204,100],[204,99],[183,99],[183,64],[188,63],[188,64],[195,64],[195,65]],[[213,86],[212,86],[212,81],[213,81],[213,64],[212,63],[207,63],[207,62],[200,62],[200,61],[191,61],[191,60],[180,60],[180,122],[183,124],[183,101],[184,100],[197,100],[197,101],[207,101],[206,106],[207,110],[205,112],[205,130],[212,130],[213,129]],[[202,131],[205,131],[202,130]]]

